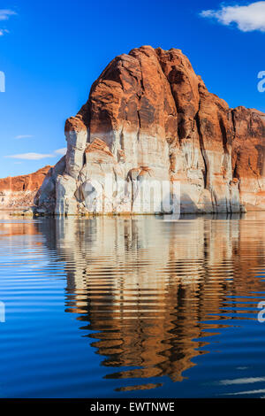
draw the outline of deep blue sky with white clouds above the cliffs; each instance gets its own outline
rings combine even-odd
[[[231,107],[265,112],[257,89],[265,2],[253,3],[1,2],[0,177],[54,165],[65,147],[64,121],[87,101],[93,81],[112,58],[144,44],[183,50],[211,92]]]

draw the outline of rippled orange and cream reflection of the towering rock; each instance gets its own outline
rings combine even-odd
[[[169,375],[181,381],[206,344],[200,341],[209,335],[204,329],[217,333],[227,325],[224,318],[237,319],[220,312],[228,297],[237,306],[237,297],[259,288],[254,275],[265,264],[265,237],[262,227],[253,232],[253,221],[233,218],[40,223],[47,243],[65,261],[66,311],[79,314],[82,331],[105,357],[103,365],[117,367],[109,378]],[[217,322],[203,323],[212,319]]]

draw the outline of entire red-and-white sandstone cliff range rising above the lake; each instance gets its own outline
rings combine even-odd
[[[56,166],[0,180],[3,208],[39,214],[140,213],[140,188],[180,184],[180,212],[265,210],[265,114],[230,109],[178,49],[114,58],[66,120]],[[108,189],[112,185],[125,187]],[[170,213],[163,191],[145,213]]]

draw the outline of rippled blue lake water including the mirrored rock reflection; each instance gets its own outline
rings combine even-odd
[[[1,219],[0,397],[265,397],[265,213]]]

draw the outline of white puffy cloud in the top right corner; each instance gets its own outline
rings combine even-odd
[[[219,10],[204,10],[201,17],[216,19],[224,26],[235,23],[242,32],[259,30],[265,32],[265,2],[242,5],[221,6]]]

